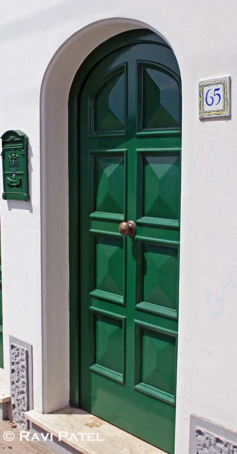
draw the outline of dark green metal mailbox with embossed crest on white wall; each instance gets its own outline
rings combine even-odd
[[[2,198],[28,200],[28,137],[18,130],[6,131],[2,140]]]

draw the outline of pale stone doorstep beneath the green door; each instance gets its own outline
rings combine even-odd
[[[30,421],[31,431],[38,434],[39,441],[41,441],[40,434],[42,431],[44,434],[52,434],[52,440],[47,439],[45,444],[59,454],[66,452],[80,454],[165,454],[157,447],[79,408],[65,407],[49,414],[30,410],[25,413],[25,416]],[[71,436],[72,433],[77,435],[76,439]],[[59,441],[59,435],[61,441]]]

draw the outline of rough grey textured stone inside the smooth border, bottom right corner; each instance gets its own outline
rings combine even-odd
[[[225,438],[196,427],[195,454],[237,454],[237,445]]]

